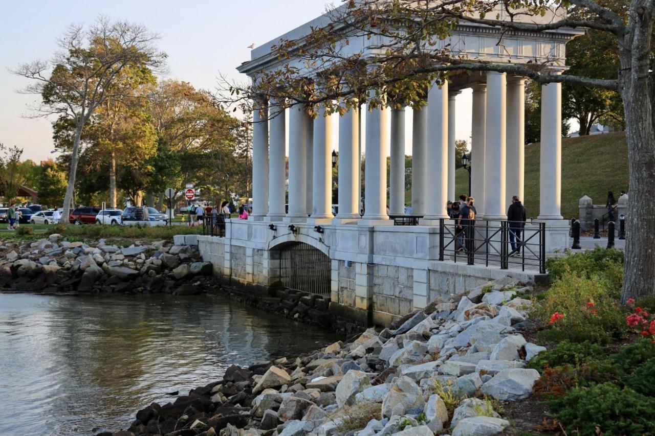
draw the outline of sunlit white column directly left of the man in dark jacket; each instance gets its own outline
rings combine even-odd
[[[506,74],[487,73],[485,126],[485,219],[506,219],[505,210]],[[474,158],[475,159],[475,158]]]

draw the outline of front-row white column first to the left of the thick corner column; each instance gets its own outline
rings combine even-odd
[[[389,153],[386,107],[366,111],[364,216],[361,225],[393,225],[386,213],[386,156]]]

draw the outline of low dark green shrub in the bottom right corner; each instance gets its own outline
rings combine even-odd
[[[557,419],[580,435],[642,435],[655,428],[655,399],[603,383],[549,401]]]

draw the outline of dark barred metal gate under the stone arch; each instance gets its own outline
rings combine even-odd
[[[329,256],[304,242],[280,249],[280,282],[286,289],[329,297],[331,261]]]

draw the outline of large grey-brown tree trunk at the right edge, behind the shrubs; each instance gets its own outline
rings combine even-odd
[[[648,72],[653,6],[631,5],[632,31],[620,44],[620,92],[626,111],[629,194],[626,262],[621,294],[629,298],[655,293],[655,120],[652,71]],[[650,82],[650,83],[649,83]]]

